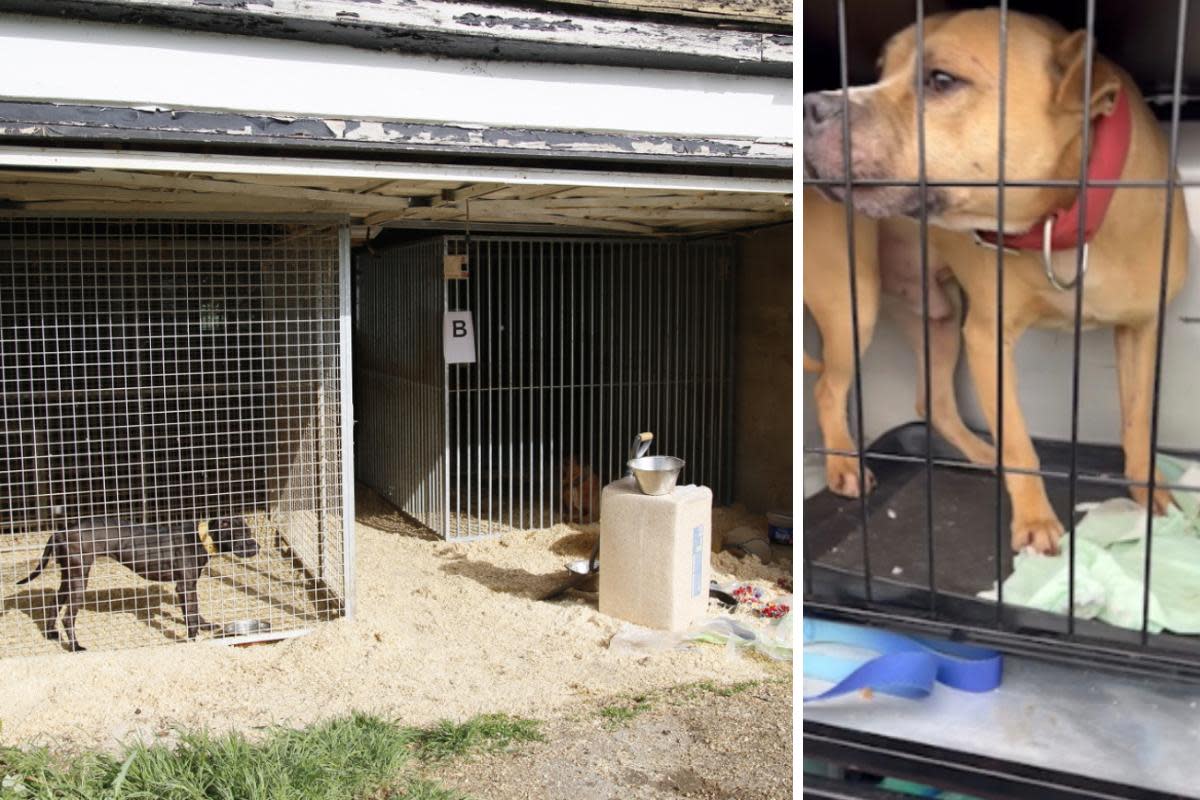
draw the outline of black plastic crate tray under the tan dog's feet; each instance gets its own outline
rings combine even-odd
[[[1048,473],[1067,474],[1070,444],[1034,440]],[[822,491],[804,501],[805,602],[834,612],[870,612],[889,620],[911,620],[967,633],[976,638],[1000,634],[998,643],[1030,645],[1016,650],[1061,652],[1072,660],[1091,661],[1103,654],[1117,667],[1135,666],[1156,670],[1177,668],[1200,678],[1200,637],[1162,633],[1144,644],[1140,631],[1129,631],[1091,620],[1075,620],[1068,634],[1067,618],[977,597],[994,587],[997,577],[996,474],[966,464],[961,456],[934,437],[932,456],[932,549],[934,577],[930,582],[930,535],[928,531],[925,464],[888,461],[888,456],[924,458],[924,423],[900,426],[880,437],[869,449],[866,463],[876,477],[876,488],[866,503],[866,530],[870,543],[871,597],[866,599],[863,576],[863,530],[857,499],[840,498]],[[1178,452],[1200,461],[1200,453]],[[882,457],[881,457],[882,456]],[[1088,479],[1120,479],[1123,455],[1118,447],[1080,444],[1076,469],[1076,503],[1122,497],[1121,486]],[[1066,521],[1068,480],[1048,477],[1050,501]],[[1001,493],[1000,558],[1002,575],[1012,572],[1009,547],[1009,500]],[[1076,517],[1078,519],[1078,517]],[[1151,577],[1153,582],[1153,577]],[[1055,643],[1069,642],[1062,648]],[[1078,646],[1074,646],[1078,645]]]

